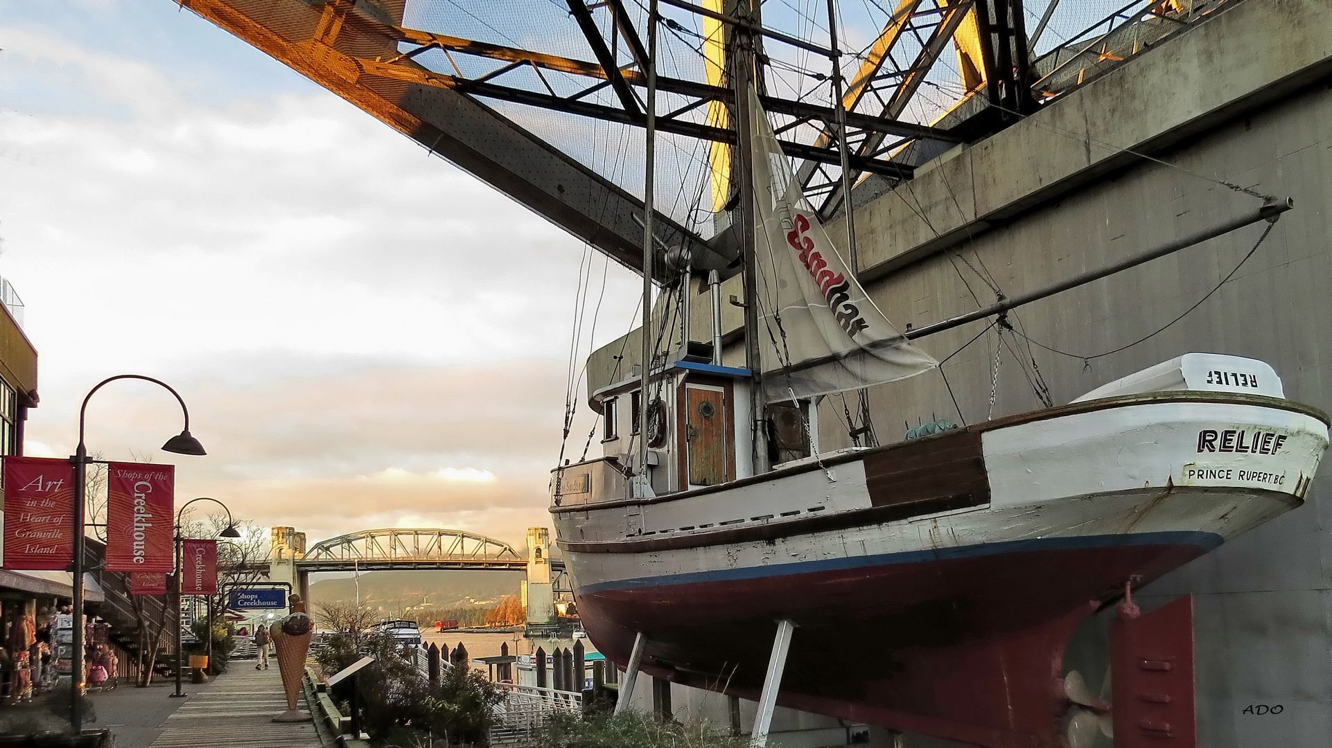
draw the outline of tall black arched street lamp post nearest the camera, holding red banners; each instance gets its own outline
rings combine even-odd
[[[73,544],[75,544],[75,560],[71,564],[71,572],[73,574],[73,652],[71,654],[69,663],[69,724],[73,728],[75,735],[83,732],[83,665],[84,665],[84,623],[83,623],[83,602],[84,602],[84,502],[87,502],[87,474],[88,474],[88,447],[84,445],[84,425],[88,413],[88,401],[92,395],[116,379],[144,379],[161,385],[166,387],[170,394],[176,395],[176,401],[180,402],[180,410],[185,414],[185,429],[180,434],[166,439],[163,445],[163,451],[176,453],[176,454],[189,454],[189,455],[204,455],[204,446],[198,443],[198,439],[189,435],[189,409],[185,407],[185,401],[180,397],[174,389],[166,382],[160,379],[153,379],[152,377],[144,377],[141,374],[117,374],[115,377],[108,377],[101,382],[97,382],[92,390],[84,397],[84,402],[79,406],[79,447],[75,449],[75,454],[69,458],[69,462],[75,465],[75,516],[73,516]]]

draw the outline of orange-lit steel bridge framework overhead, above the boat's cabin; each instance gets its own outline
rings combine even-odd
[[[575,47],[586,59],[408,28],[406,0],[177,0],[613,260],[639,269],[642,200],[500,109],[517,104],[521,112],[645,126],[643,13],[633,15],[626,0],[549,1],[561,9],[567,5],[567,19],[562,20],[575,31],[551,29],[547,37],[581,35]],[[659,1],[673,13],[683,11],[718,29],[702,45],[714,71],[730,65],[737,45],[753,44],[762,89],[765,63],[771,63],[763,52],[766,44],[814,53],[811,65],[817,67],[822,57],[829,76],[842,76],[840,59],[846,53],[839,56],[765,27],[757,0],[703,0],[706,7],[690,0]],[[840,81],[851,182],[859,196],[862,189],[876,193],[910,180],[916,165],[954,144],[990,134],[1239,1],[1130,1],[1094,27],[1100,31],[1076,35],[1043,59],[1031,60],[1059,0],[1039,0],[1040,21],[1030,36],[1023,0],[896,0],[878,39],[855,55],[855,73]],[[503,3],[450,8],[492,29],[482,15],[519,12]],[[683,29],[666,16],[662,23]],[[1127,28],[1134,33],[1124,33]],[[959,91],[951,93],[952,101],[943,109],[922,108],[922,87],[931,83],[927,77],[950,48]],[[726,146],[735,142],[735,132],[730,128],[734,117],[726,112],[734,106],[734,92],[727,76],[705,77],[699,81],[659,75],[658,101],[665,102],[665,110],[657,114],[655,126],[662,133],[713,144],[714,206],[721,208],[727,200],[715,190],[717,185],[726,189],[729,180]],[[822,77],[831,85],[827,76]],[[834,216],[844,201],[838,109],[810,101],[809,96],[761,100],[778,120],[782,148],[801,161],[797,173],[806,194],[825,218]],[[835,98],[826,96],[825,101]],[[718,177],[717,172],[727,173]],[[691,249],[697,272],[718,270],[723,277],[738,272],[733,244],[705,240],[665,214],[658,214],[654,225],[662,248]],[[659,280],[665,280],[665,262],[655,266],[662,268]]]

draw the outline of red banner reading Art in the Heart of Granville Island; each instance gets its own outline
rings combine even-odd
[[[75,560],[75,466],[4,458],[4,567],[63,571]]]

